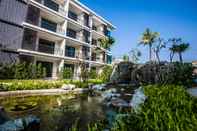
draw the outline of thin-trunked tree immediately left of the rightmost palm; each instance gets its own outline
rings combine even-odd
[[[170,62],[172,62],[173,58],[174,58],[174,54],[177,52],[177,46],[178,44],[180,44],[182,42],[181,38],[172,38],[169,39],[168,42],[172,43],[172,46],[169,48],[170,50]]]

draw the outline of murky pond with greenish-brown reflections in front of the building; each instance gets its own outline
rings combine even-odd
[[[9,97],[0,99],[0,106],[11,118],[35,115],[40,118],[40,131],[67,131],[78,121],[82,130],[89,122],[102,120],[110,108],[101,104],[100,97],[57,95]]]

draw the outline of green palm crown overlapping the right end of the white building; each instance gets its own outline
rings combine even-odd
[[[115,39],[113,37],[105,37],[98,40],[100,42],[100,46],[109,49],[111,46],[114,45]]]

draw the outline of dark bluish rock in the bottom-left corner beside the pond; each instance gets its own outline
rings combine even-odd
[[[22,131],[22,130],[39,130],[40,119],[35,116],[28,116],[16,120],[9,120],[0,125],[0,131]]]

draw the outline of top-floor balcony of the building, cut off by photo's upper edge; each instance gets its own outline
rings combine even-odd
[[[53,1],[52,0],[35,0],[35,1],[63,16],[66,16],[67,14],[63,5],[57,4],[58,3],[57,0],[53,0]]]

